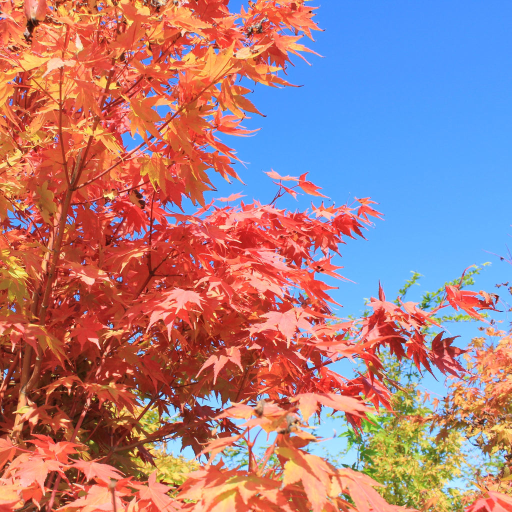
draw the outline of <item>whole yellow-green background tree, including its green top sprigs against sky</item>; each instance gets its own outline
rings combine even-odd
[[[460,289],[474,286],[475,276],[486,265],[468,269],[462,279],[459,277],[445,283],[435,292],[422,293],[419,307],[431,309],[440,305],[446,286],[458,286]],[[420,273],[412,272],[411,279],[398,290],[395,304],[404,301],[411,289],[419,285],[420,278]],[[443,325],[474,322],[470,315],[444,309],[439,311],[436,319]],[[435,335],[428,327],[424,331]],[[383,484],[377,490],[389,503],[413,506],[423,511],[462,512],[474,493],[458,488],[454,480],[470,482],[477,465],[489,467],[492,462],[482,457],[473,460],[474,454],[470,453],[464,442],[465,436],[459,429],[452,428],[444,436],[433,432],[432,395],[426,391],[425,376],[411,360],[399,361],[383,353],[382,364],[389,388],[393,391],[392,410],[365,420],[360,432],[345,430],[340,437],[346,439],[347,446],[338,454],[329,454],[329,458],[346,465],[347,460],[355,458],[350,467]]]

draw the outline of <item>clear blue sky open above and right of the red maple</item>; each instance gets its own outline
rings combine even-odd
[[[512,274],[485,252],[512,246],[512,3],[330,0],[316,12],[324,32],[309,46],[323,57],[294,59],[301,88],[255,88],[267,117],[244,124],[262,130],[227,139],[249,162],[238,166],[247,186],[216,180],[214,196],[268,202],[273,168],[310,173],[336,204],[379,202],[385,221],[344,247],[342,273],[357,285],[333,293],[341,315],[357,314],[379,279],[394,297],[411,270],[424,275],[412,299],[491,261],[476,289],[494,291]]]

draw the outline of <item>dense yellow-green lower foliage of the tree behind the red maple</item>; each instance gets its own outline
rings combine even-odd
[[[392,413],[373,415],[362,432],[348,429],[340,458],[382,484],[377,489],[389,503],[436,512],[462,511],[464,494],[454,480],[470,477],[475,468],[462,456],[463,437],[453,430],[443,440],[431,432],[432,408],[419,385],[421,376],[411,365],[400,365],[386,356],[386,373],[395,386]]]

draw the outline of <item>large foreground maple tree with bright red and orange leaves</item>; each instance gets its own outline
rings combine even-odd
[[[322,276],[379,217],[368,198],[287,211],[283,194],[323,196],[271,171],[271,204],[204,200],[208,173],[238,179],[221,136],[248,134],[245,86],[288,84],[314,10],[0,6],[0,510],[396,510],[367,475],[305,450],[308,421],[330,408],[359,428],[367,403],[390,407],[384,346],[460,370],[453,338],[422,332],[446,301],[425,312],[379,287],[371,315],[334,317]],[[446,300],[494,307],[457,286]],[[365,371],[344,378],[343,358]],[[171,439],[207,458],[184,481],[148,470]],[[218,455],[242,440],[247,468],[226,468]]]

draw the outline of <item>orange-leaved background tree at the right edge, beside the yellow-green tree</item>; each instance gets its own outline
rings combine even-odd
[[[508,282],[497,287],[512,293]],[[506,298],[501,304],[510,311]],[[452,382],[436,419],[441,426],[438,439],[458,430],[477,452],[494,460],[494,465],[479,467],[474,475],[482,496],[477,501],[480,503],[478,506],[492,510],[493,502],[500,499],[495,493],[512,494],[512,342],[510,329],[499,330],[489,326],[480,330],[486,337],[472,340],[471,350],[464,356],[468,373],[463,379]],[[479,509],[475,507],[475,510]]]

